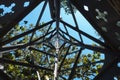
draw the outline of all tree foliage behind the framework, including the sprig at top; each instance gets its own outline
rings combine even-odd
[[[66,0],[63,0],[61,3],[61,7],[63,7],[66,13],[69,14],[71,13],[71,10],[67,6],[70,6],[70,5],[67,3]],[[72,5],[72,8],[73,8],[73,11],[75,12],[76,9],[73,5]],[[43,25],[43,24],[44,23],[40,25]],[[34,27],[33,24],[28,25],[27,21],[24,21],[23,26],[17,24],[4,37],[3,41],[9,40],[14,36],[17,36],[23,32],[29,31],[33,27]],[[44,36],[46,33],[48,33],[47,31],[49,28],[50,27],[46,26],[35,32],[33,31],[34,35],[33,34],[25,35],[24,37],[17,39],[5,46],[16,46],[16,45],[27,44],[31,41],[34,41],[40,38],[41,36]],[[49,41],[50,39],[46,40],[49,38],[49,36],[50,35],[40,38],[38,41],[36,41],[35,45],[5,52],[3,54],[3,58],[17,61],[17,62],[27,63],[31,65],[38,65],[41,67],[54,69],[55,60],[53,56],[56,56],[56,52],[55,52],[56,50],[54,49],[53,45],[50,44],[50,41]],[[40,43],[43,40],[45,42]],[[62,54],[59,55],[59,66],[61,66],[61,68],[58,68],[60,71],[59,80],[69,77],[69,75],[71,74],[71,69],[73,68],[75,59],[77,58],[79,53],[79,49],[80,49],[79,46],[75,46],[75,45],[70,46],[70,45],[71,45],[70,43],[66,43],[65,46],[63,46],[60,49]],[[52,54],[52,57],[44,53]],[[66,53],[68,54],[66,55]],[[66,58],[64,58],[65,55],[66,55]],[[79,57],[80,58],[77,61],[75,73],[72,78],[73,79],[81,78],[82,80],[91,80],[90,79],[91,76],[94,77],[96,74],[98,74],[99,69],[102,67],[102,64],[100,63],[97,63],[95,65],[96,61],[101,60],[100,53],[92,52],[89,54],[88,53],[82,54]],[[64,62],[62,63],[63,60]],[[12,77],[13,80],[37,80],[38,79],[37,72],[39,72],[42,80],[45,80],[45,78],[53,79],[53,71],[51,72],[51,71],[29,68],[29,67],[20,66],[20,65],[4,64],[4,72],[6,72],[10,77]]]

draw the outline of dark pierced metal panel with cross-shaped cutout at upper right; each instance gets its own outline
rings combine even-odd
[[[72,0],[71,0],[72,1]],[[111,6],[112,3],[115,4]],[[94,0],[90,3],[89,0],[72,1],[75,6],[83,13],[83,15],[89,20],[93,27],[103,36],[105,42],[112,47],[112,49],[118,49],[120,44],[119,34],[119,1],[103,1]],[[115,6],[117,8],[115,9]],[[89,10],[86,11],[85,7]],[[116,12],[117,11],[117,12]]]

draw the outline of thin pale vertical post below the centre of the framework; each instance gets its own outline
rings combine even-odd
[[[59,40],[58,40],[58,38],[55,42],[55,48],[56,48],[56,57],[55,57],[55,68],[54,68],[54,80],[57,80],[57,76],[58,76],[58,57],[59,57]]]

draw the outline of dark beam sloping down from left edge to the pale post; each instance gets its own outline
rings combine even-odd
[[[9,60],[9,59],[0,58],[0,62],[2,62],[2,63],[7,63],[7,64],[13,64],[13,65],[20,65],[20,66],[25,66],[25,67],[35,68],[35,69],[53,71],[52,69],[45,68],[45,67],[41,67],[41,66],[39,66],[39,65],[22,63],[22,62],[17,62],[17,61]]]

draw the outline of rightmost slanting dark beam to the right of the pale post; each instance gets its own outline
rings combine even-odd
[[[70,75],[69,75],[68,80],[73,80],[73,77],[74,77],[75,72],[76,72],[77,63],[78,63],[78,60],[79,60],[79,58],[80,58],[80,54],[82,53],[82,50],[83,50],[83,49],[81,48],[80,51],[79,51],[79,53],[78,53],[78,55],[77,55],[77,57],[76,57],[76,60],[75,60],[75,62],[74,62],[74,65],[73,65],[73,68],[72,68],[72,70],[71,70],[71,73],[70,73]]]

